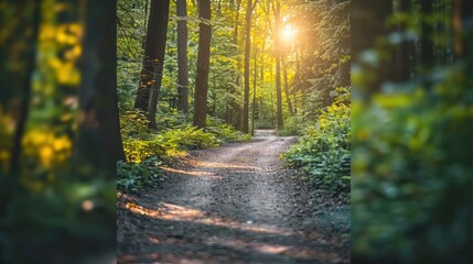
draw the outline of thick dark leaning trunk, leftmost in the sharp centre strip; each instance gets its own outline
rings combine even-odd
[[[151,97],[158,97],[164,66],[163,62],[169,21],[169,3],[170,0],[151,0],[143,66],[135,101],[135,109],[150,113],[149,119],[151,128],[155,127],[155,118],[152,117],[155,116],[155,109],[153,110],[154,114],[151,110],[155,108],[158,103],[158,99],[151,99]],[[158,65],[158,78],[155,80],[158,84],[155,86],[157,90],[151,91],[155,65]],[[150,108],[151,100],[157,103]]]

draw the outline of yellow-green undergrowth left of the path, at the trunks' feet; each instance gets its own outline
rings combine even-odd
[[[187,151],[251,138],[216,119],[207,121],[205,131],[190,125],[183,116],[161,119],[159,131],[150,130],[148,124],[143,112],[129,111],[120,116],[127,162],[119,163],[117,167],[119,189],[139,189],[149,183],[163,182],[165,174],[160,166],[184,156]]]

